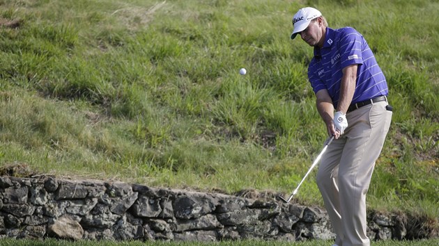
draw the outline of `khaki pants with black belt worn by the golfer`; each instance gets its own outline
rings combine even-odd
[[[386,106],[380,101],[348,113],[348,128],[322,156],[317,185],[339,246],[370,245],[366,193],[392,120]]]

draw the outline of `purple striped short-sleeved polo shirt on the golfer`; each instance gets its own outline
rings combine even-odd
[[[314,93],[327,89],[334,108],[340,95],[342,69],[358,64],[352,104],[387,95],[387,82],[366,40],[354,28],[326,28],[323,48],[314,47],[308,78]]]

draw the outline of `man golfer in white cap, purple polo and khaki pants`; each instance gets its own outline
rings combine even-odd
[[[317,184],[339,246],[370,245],[366,193],[392,120],[387,82],[364,37],[332,29],[315,8],[293,17],[293,33],[314,47],[308,79],[334,141],[322,156]]]

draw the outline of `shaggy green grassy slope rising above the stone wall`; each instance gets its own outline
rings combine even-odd
[[[314,6],[331,27],[364,35],[390,86],[394,117],[369,207],[423,215],[438,227],[437,1],[0,6],[1,165],[289,194],[326,138],[307,82],[312,49],[289,40],[293,14]],[[298,192],[302,204],[322,205],[314,173]]]

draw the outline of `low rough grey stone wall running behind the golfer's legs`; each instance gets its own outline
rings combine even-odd
[[[407,238],[403,218],[370,213],[370,238]],[[0,238],[5,237],[294,241],[334,234],[321,208],[275,199],[110,181],[0,177]]]

